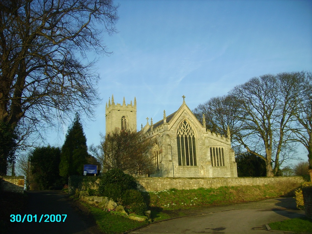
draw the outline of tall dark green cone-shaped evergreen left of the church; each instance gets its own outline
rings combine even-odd
[[[77,114],[73,124],[67,130],[65,142],[62,146],[60,163],[60,175],[62,177],[82,175],[83,164],[87,164],[87,158],[90,157],[87,152],[86,141],[80,117]]]

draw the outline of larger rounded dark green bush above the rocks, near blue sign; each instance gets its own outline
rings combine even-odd
[[[133,176],[119,169],[111,169],[101,178],[98,191],[101,196],[112,198],[117,202],[127,190],[136,188]]]

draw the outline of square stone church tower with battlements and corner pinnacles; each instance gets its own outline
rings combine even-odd
[[[132,105],[132,100],[130,104],[126,105],[125,100],[123,100],[122,105],[114,102],[114,95],[112,95],[112,103],[110,99],[108,104],[106,102],[105,108],[106,116],[106,135],[113,131],[116,127],[119,129],[130,129],[132,131],[137,131],[136,127],[136,99],[134,97],[134,104]]]

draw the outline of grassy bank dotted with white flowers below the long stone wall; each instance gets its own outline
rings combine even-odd
[[[145,194],[150,207],[164,210],[190,207],[227,205],[259,201],[276,197],[294,196],[298,184],[279,183],[275,185],[237,186],[220,188],[199,188],[190,190],[170,189]]]

